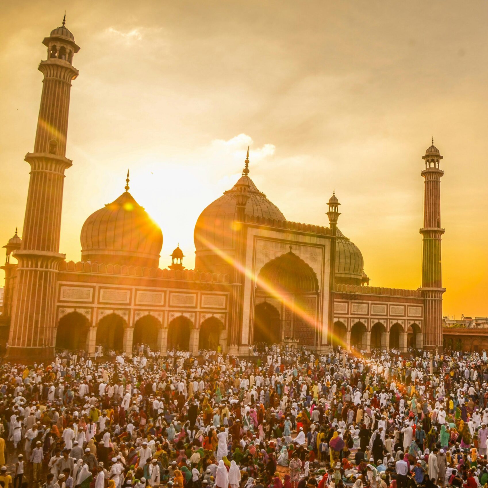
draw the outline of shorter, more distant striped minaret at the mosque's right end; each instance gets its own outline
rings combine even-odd
[[[424,348],[442,348],[442,287],[441,263],[441,176],[439,168],[442,156],[434,146],[427,148],[425,156],[426,169],[422,171],[425,178],[424,187],[424,227],[420,233],[424,237],[422,254],[422,288],[425,298],[424,307]]]

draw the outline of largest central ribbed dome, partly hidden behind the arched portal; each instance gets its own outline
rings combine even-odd
[[[246,215],[266,217],[275,220],[286,220],[278,207],[271,203],[264,193],[256,188],[251,178],[249,182]],[[235,195],[236,185],[231,190],[212,202],[198,217],[193,239],[196,249],[195,269],[226,273],[229,267],[228,259],[234,256],[235,249],[235,220],[237,208]],[[223,252],[225,257],[218,255]],[[230,268],[229,268],[230,269]]]

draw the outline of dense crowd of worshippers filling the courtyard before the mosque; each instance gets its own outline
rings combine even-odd
[[[280,350],[0,366],[0,487],[488,488],[486,355]]]

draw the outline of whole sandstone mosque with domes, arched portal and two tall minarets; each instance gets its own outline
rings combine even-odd
[[[66,135],[80,47],[64,21],[42,43],[47,58],[39,64],[44,80],[34,150],[25,156],[31,172],[22,238],[16,232],[4,246],[1,267],[0,334],[9,361],[49,360],[56,347],[128,353],[141,342],[162,354],[220,347],[248,355],[258,343],[320,352],[336,345],[366,353],[442,348],[444,172],[433,141],[422,156],[417,290],[369,286],[360,250],[338,227],[335,193],[328,227],[287,220],[252,181],[249,150],[242,176],[195,224],[194,271],[183,266],[179,247],[168,269],[159,268],[163,233],[131,195],[129,174],[122,194],[106,195],[112,203],[83,224],[81,259],[66,261],[59,252],[61,206],[64,173],[72,166]]]

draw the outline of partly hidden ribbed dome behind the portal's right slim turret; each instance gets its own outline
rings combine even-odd
[[[339,229],[336,240],[336,283],[360,285],[363,278],[363,255]]]

